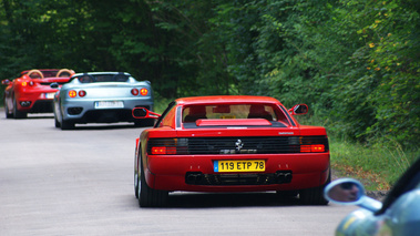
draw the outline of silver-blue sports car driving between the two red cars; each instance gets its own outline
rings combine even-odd
[[[136,81],[124,72],[78,73],[54,95],[55,127],[71,130],[76,123],[116,122],[152,126],[153,119],[136,120],[132,110],[139,106],[153,110],[153,105],[150,81]]]

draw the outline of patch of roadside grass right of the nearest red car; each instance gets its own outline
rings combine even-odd
[[[334,137],[329,141],[332,168],[341,177],[359,179],[367,191],[390,189],[419,154],[403,151],[398,144],[366,146]]]

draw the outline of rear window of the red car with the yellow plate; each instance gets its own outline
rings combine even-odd
[[[183,109],[182,117],[184,123],[199,119],[265,119],[270,122],[287,122],[285,114],[272,104],[189,105]]]

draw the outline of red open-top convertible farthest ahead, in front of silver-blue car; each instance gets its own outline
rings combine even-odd
[[[40,69],[22,71],[17,79],[2,80],[7,119],[24,119],[28,113],[52,112],[52,100],[58,88],[69,81],[74,71],[68,69]]]

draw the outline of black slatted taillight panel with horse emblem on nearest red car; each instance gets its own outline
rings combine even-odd
[[[240,140],[242,148],[236,142]],[[326,153],[327,136],[242,136],[242,137],[181,137],[150,138],[151,155],[202,155],[202,154],[289,154]]]

